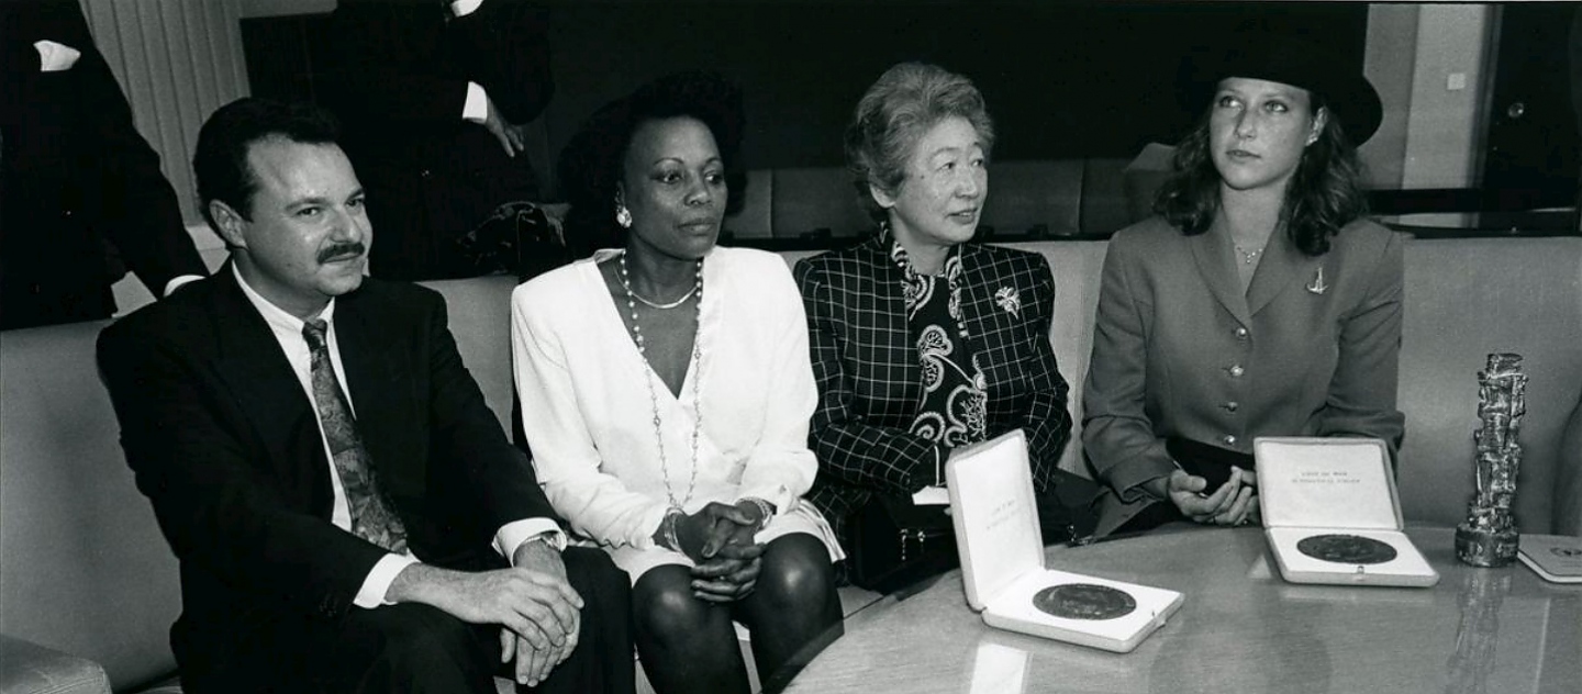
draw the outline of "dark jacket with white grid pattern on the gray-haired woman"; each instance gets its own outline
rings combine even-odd
[[[807,305],[819,402],[808,447],[819,474],[808,500],[846,542],[846,520],[873,492],[911,495],[935,482],[948,449],[910,432],[922,373],[906,326],[902,270],[889,236],[796,264]],[[1055,280],[1049,261],[992,245],[962,247],[962,311],[989,381],[987,435],[1027,432],[1033,484],[1046,492],[1071,436],[1066,381],[1049,343]],[[938,454],[938,458],[935,457]]]

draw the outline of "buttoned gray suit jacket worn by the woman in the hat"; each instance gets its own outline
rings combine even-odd
[[[1185,236],[1158,217],[1111,240],[1082,444],[1128,507],[1101,531],[1175,468],[1169,436],[1248,454],[1255,436],[1400,444],[1400,237],[1357,220],[1315,258],[1275,232],[1245,294],[1234,262],[1223,232]]]

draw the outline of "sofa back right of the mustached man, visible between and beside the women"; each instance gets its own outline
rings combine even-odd
[[[1103,240],[1006,243],[1044,255],[1055,273],[1050,340],[1071,384],[1081,441],[1082,386],[1093,349]],[[816,251],[785,251],[788,264]],[[1473,493],[1476,372],[1495,351],[1523,356],[1528,375],[1517,519],[1523,531],[1582,534],[1582,239],[1410,239],[1405,251],[1398,406],[1406,416],[1397,482],[1410,522],[1454,525]],[[451,302],[462,356],[509,427],[511,373],[505,278],[427,283]],[[484,310],[483,304],[497,308]],[[465,308],[464,308],[465,307]],[[500,316],[500,318],[495,318]],[[1573,414],[1577,411],[1579,414]],[[1087,474],[1079,444],[1062,468]]]

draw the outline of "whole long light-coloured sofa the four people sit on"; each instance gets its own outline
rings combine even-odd
[[[1017,247],[1054,266],[1052,338],[1079,409],[1106,242]],[[446,296],[462,354],[508,424],[513,281],[430,286]],[[0,332],[3,694],[136,691],[174,670],[166,629],[180,609],[176,561],[122,458],[93,367],[100,327]],[[1582,534],[1582,237],[1410,242],[1402,348],[1406,520],[1451,525],[1463,515],[1476,372],[1487,353],[1514,351],[1530,376],[1519,520],[1525,531]],[[1063,465],[1082,470],[1076,446]],[[843,598],[853,612],[876,596]]]

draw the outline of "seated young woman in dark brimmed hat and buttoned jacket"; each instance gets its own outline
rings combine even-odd
[[[1082,400],[1099,533],[1256,522],[1256,436],[1400,446],[1402,240],[1364,217],[1356,153],[1383,107],[1321,55],[1242,35],[1196,65],[1158,215],[1109,243]]]

